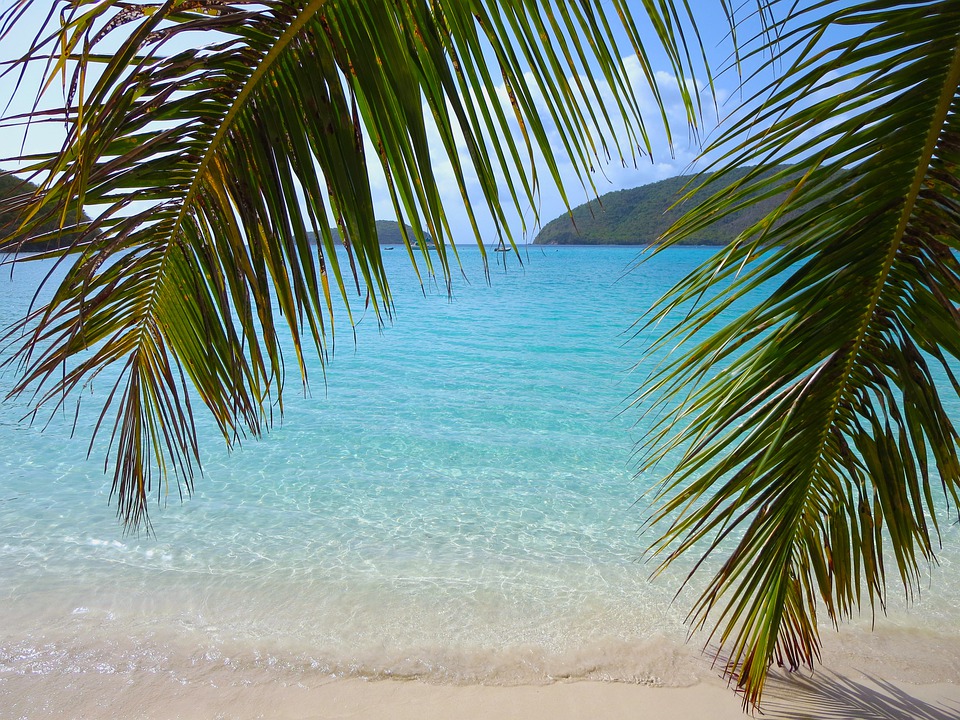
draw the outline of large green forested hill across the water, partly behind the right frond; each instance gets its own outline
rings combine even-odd
[[[730,182],[743,177],[749,168],[730,173]],[[694,175],[679,175],[631,190],[601,195],[599,200],[573,210],[573,219],[564,213],[544,225],[534,239],[538,245],[647,245],[656,241],[679,215],[696,204],[697,196],[681,208],[668,212]],[[718,187],[708,188],[707,193]],[[704,196],[706,197],[706,195]],[[767,198],[757,205],[733,213],[709,229],[684,241],[685,245],[724,245],[757,222],[779,202]]]

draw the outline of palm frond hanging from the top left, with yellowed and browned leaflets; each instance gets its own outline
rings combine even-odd
[[[26,32],[34,4],[17,0],[0,14],[0,36]],[[597,160],[649,151],[601,5],[53,3],[60,23],[6,72],[45,66],[48,86],[62,78],[66,106],[2,126],[65,124],[67,136],[58,152],[13,159],[40,190],[5,209],[25,218],[17,234],[56,218],[52,235],[78,235],[55,253],[65,279],[53,298],[7,336],[20,370],[14,393],[34,392],[38,408],[56,409],[117,369],[97,433],[109,434],[113,493],[129,527],[146,522],[149,494],[162,496],[171,478],[191,488],[199,461],[191,397],[228,443],[257,436],[273,407],[282,411],[282,334],[292,336],[306,382],[304,354],[328,353],[337,295],[360,296],[378,318],[389,316],[371,162],[414,228],[408,250],[418,273],[449,277],[459,228],[444,213],[438,160],[452,166],[479,241],[466,178],[475,175],[486,212],[510,239],[503,204],[536,206],[538,167],[559,181],[551,125],[586,183]],[[645,57],[629,8],[615,6]],[[671,63],[692,71],[681,30],[661,11],[647,6]],[[587,64],[606,80],[612,105],[599,102],[597,82],[570,81]],[[506,107],[496,101],[501,83]],[[696,106],[687,103],[693,121]],[[80,207],[93,219],[63,210]],[[411,248],[425,249],[427,233],[437,268]]]

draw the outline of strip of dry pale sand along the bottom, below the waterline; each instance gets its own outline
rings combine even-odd
[[[738,720],[739,697],[718,678],[685,688],[557,682],[542,686],[430,685],[417,681],[330,679],[316,684],[252,680],[220,687],[216,673],[184,686],[163,674],[78,673],[67,688],[44,678],[0,680],[2,718],[149,718],[180,720]],[[763,717],[955,720],[960,685],[891,683],[853,669],[771,679]]]

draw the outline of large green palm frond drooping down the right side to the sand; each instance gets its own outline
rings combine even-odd
[[[651,551],[661,567],[723,555],[691,618],[713,626],[745,704],[772,662],[812,666],[821,610],[836,623],[862,601],[882,608],[894,577],[917,591],[943,516],[934,486],[960,500],[941,401],[960,389],[960,7],[843,5],[777,28],[792,64],[716,144],[715,180],[757,168],[665,241],[787,199],[651,317],[681,318],[657,353],[696,338],[641,393],[662,413],[645,467],[681,456]],[[831,27],[844,37],[827,43]]]

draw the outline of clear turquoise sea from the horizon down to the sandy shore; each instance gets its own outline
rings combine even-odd
[[[688,639],[693,594],[676,596],[687,568],[650,577],[639,529],[658,478],[637,474],[645,427],[628,402],[650,370],[632,324],[710,252],[630,272],[631,248],[523,249],[522,266],[491,253],[487,282],[466,248],[448,296],[385,251],[392,322],[359,303],[354,335],[341,316],[330,362],[306,394],[290,379],[260,441],[228,451],[201,417],[196,492],[154,502],[150,536],[118,523],[105,448],[87,457],[106,382],[75,432],[70,414],[44,429],[23,401],[0,406],[0,717],[117,675],[676,686],[714,672],[706,638]],[[0,275],[0,323],[46,269]],[[893,588],[872,634],[869,610],[825,627],[831,652],[960,682],[960,535],[942,520],[920,595]]]

